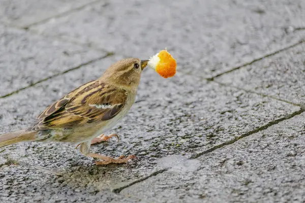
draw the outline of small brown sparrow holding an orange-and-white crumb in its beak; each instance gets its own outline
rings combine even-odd
[[[135,155],[118,159],[90,153],[90,145],[107,141],[104,132],[122,119],[134,104],[141,73],[148,60],[129,58],[112,64],[98,80],[71,91],[42,112],[26,129],[0,136],[0,147],[18,142],[68,142],[80,152],[102,159],[96,164],[127,163]],[[117,137],[117,136],[116,136]]]

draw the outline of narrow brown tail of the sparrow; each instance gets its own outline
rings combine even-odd
[[[0,148],[19,142],[35,141],[36,131],[18,130],[0,136]]]

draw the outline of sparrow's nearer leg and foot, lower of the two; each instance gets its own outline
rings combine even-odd
[[[101,161],[96,161],[97,165],[107,165],[109,163],[127,163],[129,159],[137,159],[137,157],[135,155],[129,155],[126,158],[124,155],[121,155],[120,157],[115,159],[110,156],[90,153],[90,145],[91,145],[91,141],[81,143],[79,151],[85,156],[102,159]]]

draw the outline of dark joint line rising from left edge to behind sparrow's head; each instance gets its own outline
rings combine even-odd
[[[55,78],[55,77],[57,77],[57,76],[64,75],[64,74],[69,73],[69,72],[71,72],[71,71],[75,71],[75,70],[77,70],[77,69],[80,69],[80,68],[81,68],[82,66],[84,66],[84,65],[88,65],[88,64],[90,64],[90,63],[93,63],[93,62],[95,62],[95,61],[98,61],[98,60],[107,58],[107,57],[112,56],[112,55],[114,55],[113,52],[108,52],[108,53],[107,53],[106,55],[104,55],[104,56],[101,56],[101,57],[99,57],[99,58],[95,58],[95,59],[89,60],[89,61],[87,61],[87,62],[85,62],[85,63],[81,63],[81,64],[78,65],[78,66],[72,67],[71,69],[68,69],[68,70],[66,70],[66,71],[63,71],[63,72],[54,74],[54,75],[49,76],[49,77],[46,77],[46,78],[44,78],[44,79],[42,79],[42,80],[39,80],[39,81],[37,81],[37,82],[35,82],[35,83],[32,83],[31,85],[28,85],[28,86],[19,88],[19,89],[13,91],[13,92],[10,92],[10,93],[8,93],[8,94],[5,94],[5,95],[3,95],[3,96],[0,96],[0,98],[5,98],[5,97],[8,97],[8,96],[11,96],[11,95],[13,95],[13,94],[16,94],[16,93],[18,93],[18,92],[20,92],[20,91],[22,91],[22,90],[25,90],[25,89],[29,88],[29,87],[33,87],[33,86],[35,86],[35,85],[37,85],[37,84],[39,84],[39,83],[45,82],[45,81],[47,81],[47,80],[49,80],[49,79],[51,79],[51,78]]]

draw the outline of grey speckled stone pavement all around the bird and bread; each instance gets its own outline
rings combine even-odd
[[[136,103],[92,147],[0,149],[0,202],[303,202],[305,2],[0,0],[0,134],[99,78],[167,48]],[[162,14],[162,15],[161,15]]]

